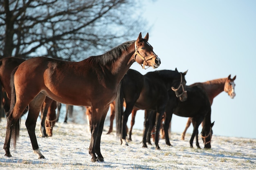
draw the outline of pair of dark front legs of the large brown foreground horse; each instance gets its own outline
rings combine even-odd
[[[95,109],[92,107],[92,128],[91,128],[91,141],[89,147],[89,154],[92,156],[91,161],[104,161],[100,152],[101,134],[103,131],[103,124],[108,113],[108,107],[105,109]],[[101,116],[99,116],[101,115]],[[97,154],[97,155],[96,155]]]

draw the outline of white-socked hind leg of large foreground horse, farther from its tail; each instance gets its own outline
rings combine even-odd
[[[38,155],[38,159],[45,158],[40,152],[37,139],[36,139],[36,134],[35,134],[36,120],[40,113],[40,108],[44,100],[45,100],[45,95],[40,93],[32,100],[32,102],[30,102],[29,113],[26,120],[26,127],[27,127],[31,144],[32,144],[33,152]]]

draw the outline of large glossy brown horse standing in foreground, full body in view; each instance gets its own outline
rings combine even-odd
[[[135,61],[143,68],[157,68],[161,63],[148,43],[148,33],[145,38],[139,33],[137,40],[125,42],[103,55],[81,62],[34,57],[20,64],[11,79],[13,107],[7,115],[5,156],[11,157],[11,139],[16,147],[20,116],[29,105],[26,127],[34,153],[39,159],[44,158],[36,140],[35,126],[43,101],[48,96],[63,104],[92,106],[89,154],[92,162],[104,161],[100,142],[106,114],[116,98],[119,82]]]

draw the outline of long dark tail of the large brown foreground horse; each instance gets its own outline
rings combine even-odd
[[[11,73],[11,81],[10,81],[10,86],[11,86],[11,106],[10,106],[10,110],[7,113],[6,117],[7,117],[7,128],[11,128],[11,131],[7,130],[8,132],[11,132],[11,140],[13,143],[13,148],[16,148],[16,141],[19,138],[20,135],[20,118],[18,119],[18,121],[15,122],[15,120],[13,120],[12,114],[13,114],[13,108],[14,105],[16,104],[16,93],[15,93],[15,86],[14,86],[14,74],[16,72],[18,67],[14,68],[14,70]],[[6,134],[7,136],[10,134]]]

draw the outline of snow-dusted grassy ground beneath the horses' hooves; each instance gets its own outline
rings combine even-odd
[[[39,123],[39,122],[38,122]],[[38,124],[39,125],[39,124]],[[36,133],[38,132],[36,126]],[[73,123],[57,123],[53,137],[37,137],[38,144],[45,159],[37,159],[32,151],[30,139],[25,127],[25,120],[21,121],[20,138],[16,150],[11,148],[13,157],[5,157],[4,150],[0,150],[0,169],[58,169],[58,170],[167,170],[167,169],[256,169],[256,139],[237,137],[222,137],[214,135],[211,149],[197,149],[189,147],[190,134],[185,140],[180,140],[180,134],[172,132],[171,144],[167,146],[164,139],[160,139],[161,150],[155,146],[142,148],[142,130],[133,130],[132,141],[129,146],[121,146],[115,131],[106,135],[108,126],[104,127],[101,137],[101,153],[104,162],[92,163],[88,153],[90,133],[87,125]],[[4,145],[6,119],[0,123],[0,146]],[[152,141],[152,144],[153,141]],[[202,139],[200,146],[203,148]]]

